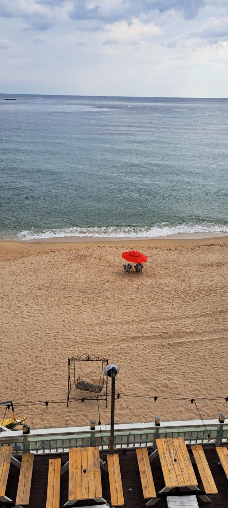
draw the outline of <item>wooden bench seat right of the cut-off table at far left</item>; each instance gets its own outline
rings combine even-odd
[[[18,506],[19,504],[29,504],[33,460],[33,453],[24,453],[22,455],[15,506]]]

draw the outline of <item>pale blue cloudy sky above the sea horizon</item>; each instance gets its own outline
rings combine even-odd
[[[0,0],[0,93],[228,95],[228,0]]]

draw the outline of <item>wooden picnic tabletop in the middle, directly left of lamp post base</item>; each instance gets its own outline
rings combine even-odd
[[[106,502],[102,497],[99,447],[70,448],[68,501],[65,506],[88,499]]]

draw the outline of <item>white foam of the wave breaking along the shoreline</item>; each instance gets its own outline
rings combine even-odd
[[[71,228],[53,228],[36,231],[30,229],[21,231],[17,238],[21,240],[34,240],[45,238],[57,238],[65,236],[91,236],[103,238],[154,238],[159,236],[168,236],[185,233],[228,233],[228,226],[211,224],[180,224],[170,226],[167,223],[155,225],[153,227],[137,226],[107,226],[107,227],[71,227]]]

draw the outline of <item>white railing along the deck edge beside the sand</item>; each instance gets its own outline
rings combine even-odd
[[[186,444],[213,442],[216,446],[228,443],[227,423],[218,420],[189,420],[181,422],[161,422],[159,427],[155,423],[118,424],[114,427],[114,447],[154,448],[158,437],[183,436]],[[208,434],[210,441],[207,440]],[[0,444],[13,445],[14,455],[23,452],[31,453],[64,453],[69,448],[81,446],[99,446],[109,449],[110,425],[102,425],[90,430],[90,427],[63,427],[57,429],[36,429],[30,434],[23,434],[22,430],[2,432]]]

